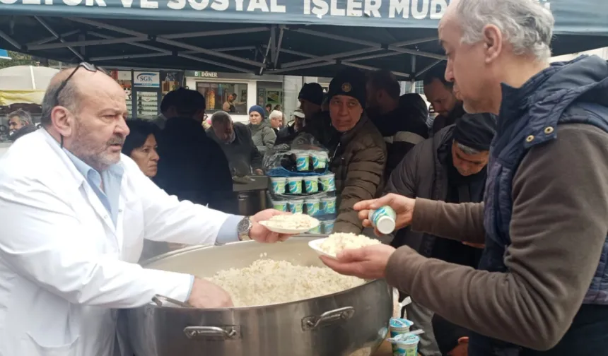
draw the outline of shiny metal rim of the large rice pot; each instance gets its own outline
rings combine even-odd
[[[301,235],[296,235],[296,237],[303,237],[303,238],[312,238],[312,239],[318,239],[318,238],[322,238],[322,237],[327,237],[327,235],[305,235],[305,236],[301,236]],[[240,241],[240,242],[230,242],[230,245],[233,244],[251,244],[251,243],[259,243],[259,242],[255,242],[255,241]],[[280,242],[277,242],[280,243]],[[162,254],[159,256],[155,256],[151,259],[147,259],[146,261],[143,261],[141,263],[141,266],[146,268],[146,266],[150,265],[151,263],[154,263],[156,261],[160,261],[162,259],[166,259],[170,256],[175,256],[177,254],[184,254],[190,251],[196,251],[196,250],[201,250],[201,249],[212,249],[214,247],[221,247],[221,246],[226,246],[226,245],[206,245],[206,246],[190,246],[190,247],[185,247],[184,249],[178,249],[175,251],[170,251],[166,254]],[[329,267],[327,267],[329,268]],[[264,309],[267,307],[284,307],[284,306],[288,306],[290,304],[298,304],[298,303],[303,303],[303,302],[310,302],[312,300],[318,300],[318,299],[326,299],[326,298],[332,298],[332,297],[337,297],[339,295],[344,295],[347,293],[351,293],[351,292],[355,292],[356,290],[359,290],[363,287],[366,287],[372,283],[382,283],[382,281],[384,281],[384,283],[388,286],[388,283],[386,283],[386,281],[384,279],[375,279],[375,280],[366,280],[365,283],[363,283],[362,285],[358,285],[356,287],[347,289],[347,290],[342,290],[340,292],[335,292],[329,295],[321,295],[319,297],[312,297],[312,298],[307,298],[307,299],[299,299],[299,300],[294,300],[293,302],[283,302],[283,303],[274,303],[274,304],[264,304],[264,305],[255,305],[255,306],[251,306],[251,307],[231,307],[231,308],[190,308],[193,310],[197,310],[197,311],[205,311],[205,312],[228,312],[228,311],[249,311],[249,310],[259,310],[259,309]],[[150,302],[148,304],[145,304],[142,307],[153,307],[153,308],[160,308],[160,309],[180,309],[179,307],[169,307],[169,306],[158,306],[156,304],[154,304],[153,302]]]

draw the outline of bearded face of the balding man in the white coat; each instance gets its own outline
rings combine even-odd
[[[78,85],[78,105],[74,112],[54,107],[54,123],[64,145],[95,170],[106,170],[120,160],[124,138],[129,134],[124,91],[110,76],[101,72],[82,73],[71,80]],[[84,78],[86,76],[86,78]],[[86,83],[86,85],[84,85]],[[62,124],[61,116],[66,115]]]

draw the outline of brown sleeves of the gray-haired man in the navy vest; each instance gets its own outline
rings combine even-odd
[[[608,133],[564,124],[531,148],[513,179],[508,273],[476,271],[400,247],[387,281],[449,321],[547,350],[566,335],[608,233]],[[412,229],[484,243],[482,203],[416,199]]]

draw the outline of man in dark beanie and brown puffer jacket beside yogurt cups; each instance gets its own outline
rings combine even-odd
[[[361,71],[338,73],[329,83],[328,97],[334,134],[322,144],[329,149],[329,169],[336,175],[339,210],[334,231],[358,234],[363,225],[353,205],[373,198],[382,188],[386,146],[363,110],[366,78]]]

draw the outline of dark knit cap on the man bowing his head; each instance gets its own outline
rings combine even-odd
[[[453,138],[464,146],[484,151],[490,149],[490,143],[495,134],[496,116],[494,114],[464,114],[456,120]]]

